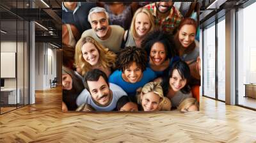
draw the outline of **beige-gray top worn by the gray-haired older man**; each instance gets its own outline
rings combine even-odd
[[[101,40],[93,29],[88,29],[83,32],[82,37],[91,36],[94,40],[101,43],[105,48],[108,48],[112,52],[119,52],[124,37],[124,28],[121,26],[111,25],[111,34],[108,39]]]

